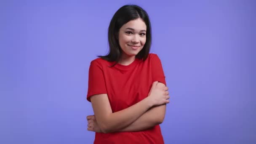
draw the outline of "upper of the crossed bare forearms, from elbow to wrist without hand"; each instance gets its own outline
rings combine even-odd
[[[131,125],[131,123],[147,112],[150,107],[152,107],[152,102],[150,99],[145,98],[131,107],[110,114],[108,116],[105,132],[115,132]]]

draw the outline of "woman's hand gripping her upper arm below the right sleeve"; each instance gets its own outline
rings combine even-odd
[[[153,106],[167,104],[170,102],[168,100],[170,98],[168,88],[160,85],[157,81],[152,84],[148,98],[152,101]]]

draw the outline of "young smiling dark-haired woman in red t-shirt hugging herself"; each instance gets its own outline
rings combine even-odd
[[[161,61],[149,53],[151,26],[147,12],[124,5],[108,29],[109,53],[91,61],[87,117],[94,144],[163,144],[160,123],[169,103]]]

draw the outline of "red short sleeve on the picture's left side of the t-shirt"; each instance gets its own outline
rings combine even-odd
[[[102,65],[93,60],[89,67],[87,100],[91,102],[91,96],[104,93],[107,93],[104,71]]]

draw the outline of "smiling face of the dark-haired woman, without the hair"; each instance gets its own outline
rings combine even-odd
[[[124,24],[118,35],[119,45],[123,50],[122,56],[136,56],[146,43],[147,26],[139,18]]]

